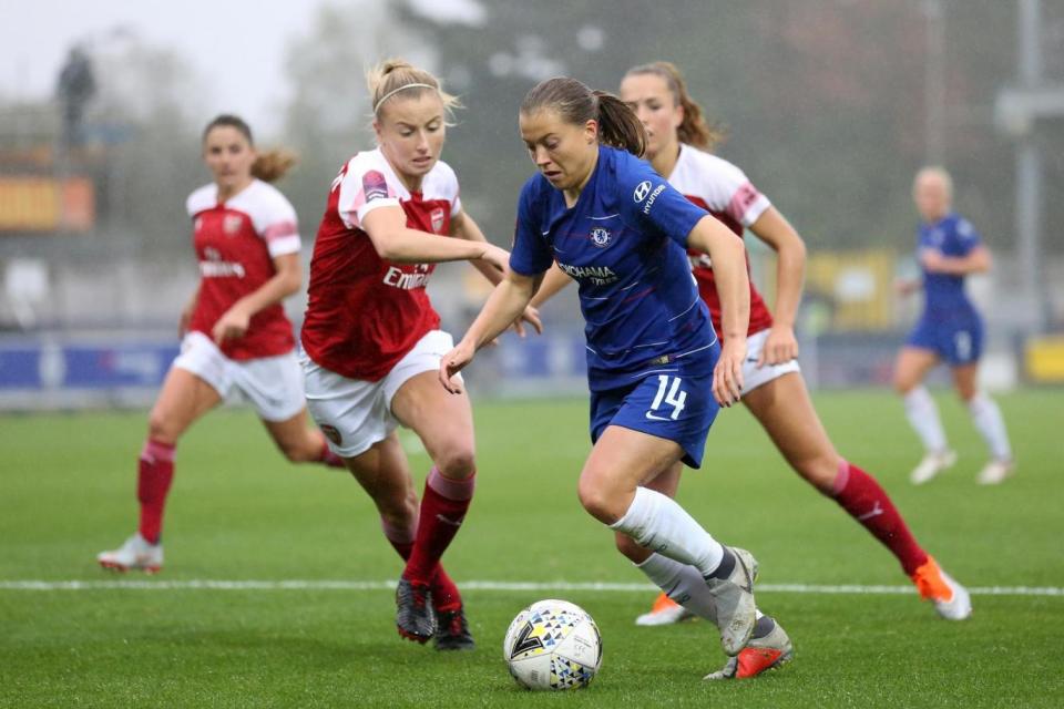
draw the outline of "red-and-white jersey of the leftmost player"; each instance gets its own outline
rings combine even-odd
[[[276,187],[259,179],[224,203],[218,202],[217,185],[205,185],[188,195],[186,206],[201,277],[190,329],[211,337],[233,304],[274,277],[275,257],[299,251],[296,210]],[[244,360],[284,354],[294,347],[291,322],[277,302],[253,315],[247,333],[225,340],[222,352]]]

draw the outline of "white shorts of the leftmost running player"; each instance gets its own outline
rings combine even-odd
[[[203,332],[188,332],[172,367],[204,380],[227,402],[246,401],[264,421],[287,421],[306,405],[296,353],[235,360]]]

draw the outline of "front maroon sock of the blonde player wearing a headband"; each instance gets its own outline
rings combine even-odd
[[[477,475],[466,480],[444,477],[433,465],[424,481],[418,535],[407,562],[403,577],[416,583],[429,583],[440,557],[458,533],[466,511],[473,499]]]

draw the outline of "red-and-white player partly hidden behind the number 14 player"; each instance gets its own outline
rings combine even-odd
[[[746,407],[791,469],[833,499],[887,546],[920,594],[934,602],[942,617],[966,618],[971,614],[968,592],[920,547],[876,480],[836,451],[812,408],[796,361],[798,343],[794,332],[806,257],[800,236],[738,167],[706,152],[718,136],[706,124],[700,106],[688,95],[675,65],[654,62],[631,69],[621,83],[620,95],[646,127],[646,158],[656,172],[739,236],[748,227],[777,251],[775,319],[750,285],[749,351],[743,389]],[[700,254],[692,254],[690,259],[699,291],[719,332],[720,307],[713,269]],[[569,280],[553,268],[532,304],[541,305]],[[672,494],[679,483],[681,470],[682,466],[676,465]],[[618,537],[618,543],[623,544],[624,540]],[[686,617],[690,617],[686,609],[662,594],[653,610],[641,616],[637,623],[663,625]],[[773,637],[767,636],[761,645],[771,649],[771,643]],[[753,657],[764,649],[758,645],[755,637],[737,662],[729,662],[725,674],[744,677],[760,671],[758,668],[763,666]]]

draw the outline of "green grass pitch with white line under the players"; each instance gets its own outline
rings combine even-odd
[[[816,397],[839,449],[876,474],[918,538],[973,587],[1064,587],[1060,390],[1002,395],[1020,461],[980,487],[982,441],[937,398],[958,465],[922,487],[900,402],[889,393]],[[446,557],[458,579],[644,582],[579,506],[586,400],[478,402],[479,486]],[[908,594],[765,592],[795,661],[747,682],[704,682],[724,655],[703,621],[637,628],[649,590],[466,593],[479,646],[440,654],[401,641],[387,589],[27,589],[25,580],[110,576],[95,554],[135,526],[135,458],[145,417],[0,418],[0,706],[10,707],[1060,707],[1064,596],[976,595],[961,624]],[[428,460],[413,453],[420,486]],[[893,558],[798,480],[749,414],[725,411],[681,501],[726,543],[751,549],[764,584],[907,583]],[[395,579],[399,559],[346,474],[296,466],[255,417],[215,412],[178,449],[154,580]],[[1060,593],[1060,592],[1057,592]],[[600,676],[572,696],[523,691],[502,636],[543,597],[586,608],[604,641]]]

